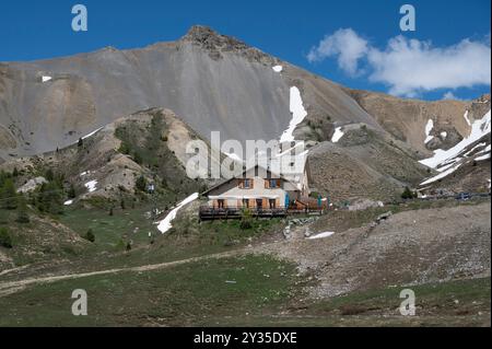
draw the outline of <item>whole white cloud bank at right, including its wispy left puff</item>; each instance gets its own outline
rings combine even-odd
[[[464,39],[448,47],[434,47],[430,42],[408,39],[400,35],[389,39],[386,49],[380,50],[352,30],[341,31],[350,33],[350,39],[336,39],[340,37],[337,34],[340,31],[337,31],[309,53],[309,61],[338,56],[339,67],[353,74],[360,71],[359,62],[363,60],[370,81],[384,83],[388,85],[389,93],[402,96],[491,83],[490,40]],[[364,44],[354,50],[351,43]]]

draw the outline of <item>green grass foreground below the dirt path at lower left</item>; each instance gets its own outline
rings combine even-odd
[[[0,326],[214,325],[208,319],[276,314],[291,294],[294,270],[245,256],[37,284],[0,298]],[[87,292],[89,316],[71,314],[74,289]]]

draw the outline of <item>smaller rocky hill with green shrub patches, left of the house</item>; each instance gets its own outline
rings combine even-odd
[[[66,205],[94,197],[119,200],[144,195],[147,187],[137,187],[143,177],[154,184],[164,200],[161,203],[171,207],[181,196],[207,187],[207,182],[187,176],[191,154],[183,144],[194,139],[200,138],[173,112],[153,108],[120,117],[68,148],[11,160],[0,167],[8,173],[15,168],[16,185],[23,191],[34,190],[32,179],[52,171],[67,187],[74,187],[75,197],[67,198]]]

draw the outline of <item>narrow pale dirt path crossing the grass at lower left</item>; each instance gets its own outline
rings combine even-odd
[[[27,286],[36,284],[36,283],[49,283],[49,282],[56,282],[56,281],[61,281],[61,280],[81,279],[81,278],[87,278],[87,277],[93,277],[93,276],[118,274],[118,272],[152,271],[152,270],[176,267],[176,266],[188,264],[188,263],[196,263],[196,261],[202,261],[202,260],[208,260],[208,259],[220,259],[220,258],[238,256],[238,255],[245,254],[246,252],[247,251],[245,248],[241,248],[241,249],[235,249],[235,251],[230,251],[230,252],[224,252],[224,253],[211,254],[211,255],[206,255],[206,256],[179,259],[179,260],[161,263],[161,264],[144,265],[144,266],[139,266],[139,267],[114,268],[114,269],[105,269],[105,270],[97,270],[97,271],[90,271],[90,272],[67,274],[67,275],[58,275],[58,276],[49,276],[49,277],[27,278],[24,280],[16,280],[16,281],[9,281],[9,282],[0,282],[0,296],[5,296],[5,295],[12,294],[12,293],[16,293],[16,292],[25,289]]]

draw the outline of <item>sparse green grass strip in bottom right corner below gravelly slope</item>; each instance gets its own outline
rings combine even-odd
[[[400,291],[415,292],[415,316],[399,314]],[[282,315],[222,321],[232,326],[490,326],[491,283],[448,281],[353,292],[323,301],[294,301]]]

